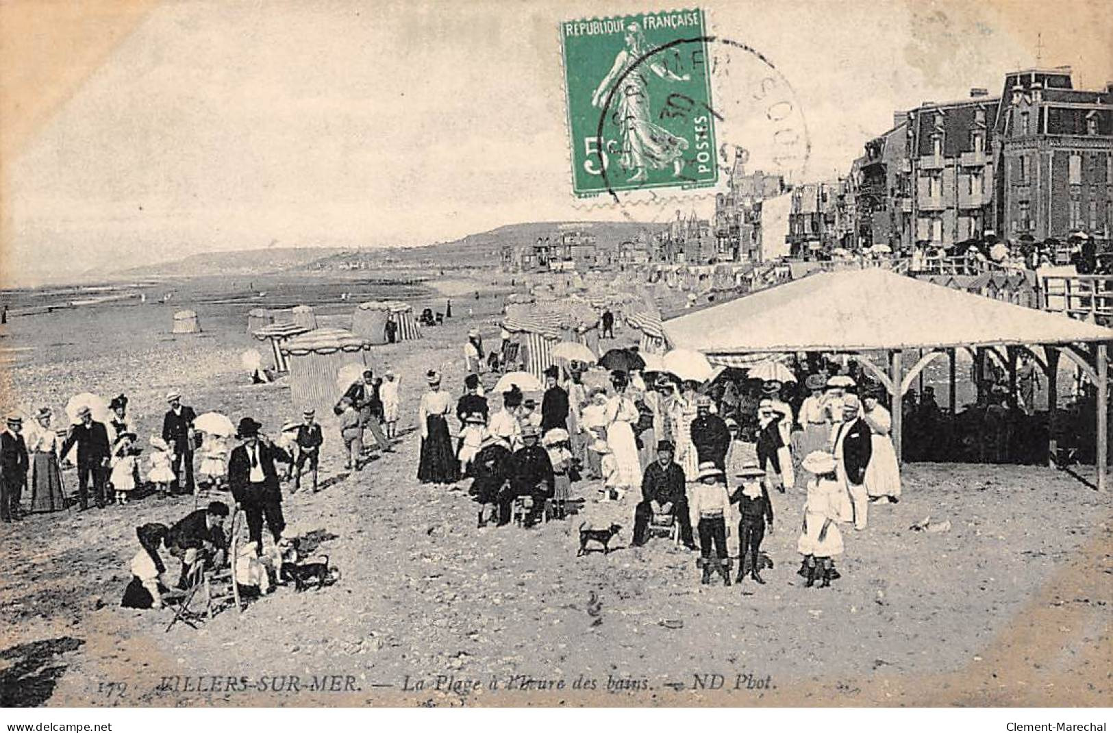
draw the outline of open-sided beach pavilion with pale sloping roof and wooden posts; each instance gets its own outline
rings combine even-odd
[[[975,359],[995,352],[1009,365],[1014,395],[1017,355],[1028,348],[1047,378],[1052,405],[1057,401],[1058,360],[1066,356],[1096,387],[1096,483],[1106,490],[1111,329],[866,268],[809,275],[666,321],[664,331],[671,344],[701,351],[716,363],[730,364],[756,353],[859,355],[861,366],[885,387],[894,405],[902,404],[928,363],[948,356],[952,412],[956,349],[972,351]],[[906,354],[920,351],[915,363],[906,363]],[[866,359],[870,352],[885,353],[888,368]],[[899,458],[902,410],[892,413]]]

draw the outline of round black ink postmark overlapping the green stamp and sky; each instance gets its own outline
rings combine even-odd
[[[647,94],[642,79],[709,79],[705,96]],[[614,204],[674,207],[677,197],[723,193],[762,172],[799,180],[811,143],[804,110],[784,74],[761,52],[719,36],[680,38],[641,53],[599,105],[595,149]],[[666,168],[652,185],[647,168]],[[736,195],[761,196],[761,192]],[[644,206],[638,219],[646,221]],[[631,217],[632,218],[632,217]]]

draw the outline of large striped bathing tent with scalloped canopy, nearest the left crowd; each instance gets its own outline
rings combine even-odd
[[[343,329],[316,329],[282,345],[289,365],[289,395],[297,410],[329,414],[339,400],[336,382],[346,364],[366,365],[371,343]]]

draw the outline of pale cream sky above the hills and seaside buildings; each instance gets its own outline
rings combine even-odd
[[[845,173],[894,110],[998,94],[1037,55],[1073,66],[1076,86],[1113,79],[1102,3],[1046,4],[700,7],[715,35],[761,51],[790,85],[811,140],[799,180]],[[672,7],[613,2],[608,14]],[[154,3],[8,150],[4,278],[671,216],[674,202],[571,194],[558,29],[597,14],[598,2]],[[735,135],[768,163],[748,139],[760,134]],[[682,207],[706,215],[708,201]]]

